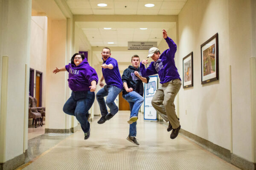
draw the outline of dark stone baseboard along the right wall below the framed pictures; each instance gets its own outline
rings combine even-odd
[[[219,158],[229,162],[230,164],[235,165],[236,167],[241,168],[242,170],[256,170],[256,163],[247,161],[246,159],[236,156],[235,154],[230,153],[230,150],[225,149],[224,147],[218,146],[183,129],[180,129],[180,135],[195,142],[196,144],[215,154]]]

